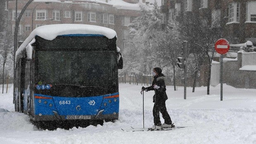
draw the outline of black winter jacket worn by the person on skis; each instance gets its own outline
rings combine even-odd
[[[155,94],[153,96],[153,102],[166,101],[168,99],[166,94],[166,85],[164,83],[165,76],[163,73],[154,76],[154,80],[150,87],[146,87],[146,91],[155,90]],[[158,85],[159,89],[154,89],[154,85]]]

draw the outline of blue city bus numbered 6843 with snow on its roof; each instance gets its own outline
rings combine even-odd
[[[116,32],[85,24],[36,28],[16,52],[15,111],[35,123],[119,118]]]

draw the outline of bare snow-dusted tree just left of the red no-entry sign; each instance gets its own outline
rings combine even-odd
[[[206,59],[208,66],[207,78],[207,94],[210,92],[211,80],[211,62],[215,53],[214,44],[221,37],[220,26],[213,26],[211,21],[206,17],[199,17],[196,14],[190,16],[185,15],[186,21],[180,23],[180,33],[185,40],[189,42],[189,54],[197,56],[194,64],[201,68],[202,61]],[[194,68],[194,73],[198,72],[198,68]],[[196,74],[194,74],[196,76]]]

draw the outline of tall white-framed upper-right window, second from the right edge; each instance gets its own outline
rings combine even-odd
[[[240,21],[240,3],[231,2],[228,4],[228,22]]]

